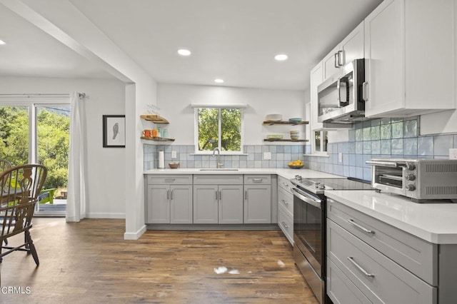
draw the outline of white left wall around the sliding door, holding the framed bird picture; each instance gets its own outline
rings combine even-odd
[[[124,87],[118,80],[0,77],[0,93],[86,93],[88,218],[125,217],[125,149],[102,146],[102,116],[125,113]]]

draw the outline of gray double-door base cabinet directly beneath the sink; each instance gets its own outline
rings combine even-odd
[[[243,185],[194,185],[194,223],[242,224]]]

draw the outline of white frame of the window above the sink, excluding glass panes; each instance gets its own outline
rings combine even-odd
[[[195,147],[195,152],[194,154],[197,155],[212,155],[213,151],[199,151],[199,109],[200,108],[217,108],[218,109],[218,148],[219,148],[219,153],[221,155],[243,155],[245,154],[243,152],[243,147],[244,147],[244,107],[241,106],[210,106],[210,105],[199,105],[198,107],[194,106],[194,147]],[[222,129],[222,122],[221,122],[221,110],[226,109],[226,108],[236,108],[240,110],[241,113],[241,142],[240,142],[240,151],[222,151],[221,149],[221,129]]]

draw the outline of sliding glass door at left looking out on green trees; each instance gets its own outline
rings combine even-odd
[[[69,104],[62,103],[0,106],[0,158],[13,166],[40,163],[48,168],[36,216],[66,214],[70,112]]]

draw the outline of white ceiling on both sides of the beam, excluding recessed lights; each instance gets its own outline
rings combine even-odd
[[[159,83],[305,90],[381,0],[69,0]],[[344,6],[343,6],[344,4]],[[0,75],[111,78],[0,4]],[[180,48],[192,55],[176,54]],[[288,54],[287,61],[273,56]]]

